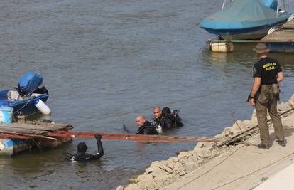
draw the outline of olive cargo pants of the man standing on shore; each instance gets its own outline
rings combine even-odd
[[[276,138],[278,141],[284,140],[284,130],[280,117],[277,111],[278,93],[273,89],[272,85],[261,85],[260,94],[256,101],[256,115],[259,130],[261,132],[261,143],[265,145],[270,144],[270,137],[268,131],[268,122],[266,121],[267,110],[273,122]]]

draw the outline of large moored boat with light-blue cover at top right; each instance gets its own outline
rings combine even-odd
[[[234,0],[222,10],[208,16],[200,27],[225,40],[261,39],[274,26],[281,26],[290,16],[281,11],[276,0]],[[285,4],[284,4],[285,7]]]

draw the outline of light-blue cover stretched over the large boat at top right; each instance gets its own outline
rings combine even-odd
[[[203,19],[200,26],[214,30],[239,30],[271,26],[286,19],[287,15],[277,17],[276,11],[258,0],[234,0],[224,9]]]

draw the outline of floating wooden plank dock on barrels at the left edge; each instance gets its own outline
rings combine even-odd
[[[12,156],[34,147],[57,147],[72,137],[48,137],[49,132],[67,132],[72,125],[45,122],[0,124],[0,155]]]

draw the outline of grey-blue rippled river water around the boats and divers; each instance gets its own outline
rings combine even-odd
[[[287,2],[294,10],[294,3]],[[43,75],[51,119],[76,131],[136,131],[136,115],[152,118],[153,105],[180,109],[179,136],[211,136],[234,121],[251,118],[246,103],[253,46],[212,53],[199,27],[220,0],[99,1],[9,0],[0,4],[1,89],[16,86],[27,70]],[[285,71],[283,101],[294,93],[293,54],[271,53]],[[136,111],[136,112],[133,112]],[[78,142],[57,149],[0,157],[0,189],[114,189],[155,160],[175,157],[195,143],[143,144],[104,140],[102,159],[64,159]]]

